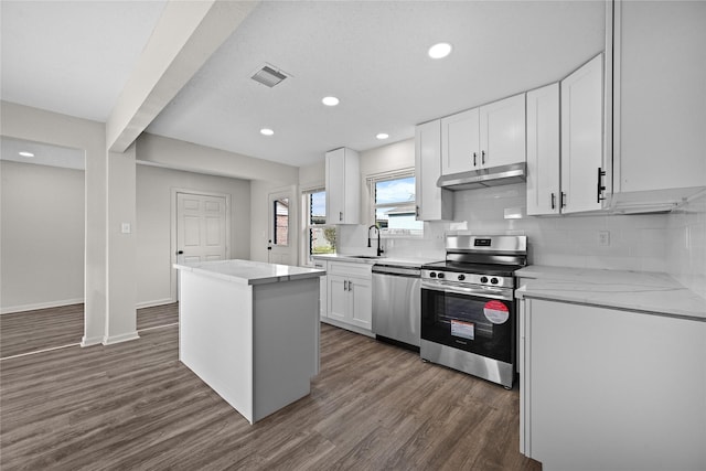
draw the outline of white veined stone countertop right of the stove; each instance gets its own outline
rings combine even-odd
[[[667,274],[528,266],[517,298],[576,302],[706,322],[706,299]]]

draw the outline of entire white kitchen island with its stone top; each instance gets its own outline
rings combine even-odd
[[[184,365],[250,424],[309,394],[323,270],[249,260],[174,268]]]

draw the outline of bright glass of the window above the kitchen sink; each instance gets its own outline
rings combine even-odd
[[[415,220],[415,178],[375,182],[375,222],[389,232],[415,233],[424,229],[424,223]]]

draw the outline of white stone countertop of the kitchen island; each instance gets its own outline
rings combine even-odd
[[[325,275],[324,270],[292,267],[289,265],[266,264],[252,260],[214,260],[195,264],[174,264],[179,270],[208,275],[226,281],[242,285],[263,285],[291,281],[304,278],[317,278]]]

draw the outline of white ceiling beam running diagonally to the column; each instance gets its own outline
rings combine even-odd
[[[106,122],[124,152],[237,30],[258,1],[170,0]]]

